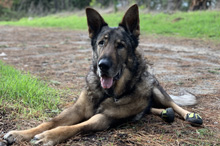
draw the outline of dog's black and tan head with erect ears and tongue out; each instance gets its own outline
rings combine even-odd
[[[126,64],[138,45],[138,6],[131,6],[118,27],[111,28],[94,9],[87,8],[89,37],[93,47],[93,65],[104,89],[120,80]]]

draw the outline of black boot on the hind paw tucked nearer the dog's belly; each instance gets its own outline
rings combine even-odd
[[[167,108],[161,112],[161,118],[168,122],[172,123],[174,121],[175,113],[172,108]]]

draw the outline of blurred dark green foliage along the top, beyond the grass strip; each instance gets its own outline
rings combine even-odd
[[[1,0],[0,0],[1,1]],[[4,1],[4,0],[2,0]],[[140,9],[152,11],[188,11],[191,0],[11,0],[9,8],[3,8],[0,4],[0,21],[19,19],[21,16],[45,16],[57,12],[68,12],[74,9],[84,9],[87,6],[105,8],[112,6],[117,12],[119,7],[128,7],[137,3]],[[201,6],[194,6],[193,10],[217,8],[219,1],[211,0],[209,3]],[[2,3],[3,5],[3,3]],[[5,15],[2,15],[4,13]]]

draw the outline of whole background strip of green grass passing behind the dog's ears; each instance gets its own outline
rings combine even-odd
[[[124,13],[103,14],[109,26],[117,26]],[[50,15],[22,18],[19,21],[1,21],[0,25],[32,26],[32,27],[59,27],[65,29],[86,30],[85,16],[77,15]],[[209,38],[220,40],[220,13],[218,11],[140,13],[140,28],[144,34],[160,34],[191,38]]]

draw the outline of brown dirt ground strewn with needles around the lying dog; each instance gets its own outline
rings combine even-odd
[[[184,108],[199,113],[203,126],[192,127],[178,116],[168,124],[150,114],[135,123],[77,135],[59,146],[220,145],[220,43],[142,35],[139,47],[169,94],[188,91],[196,95],[198,104]],[[85,85],[91,54],[86,31],[0,26],[0,60],[39,76],[51,86],[70,89],[69,97],[62,99],[66,101],[62,108],[72,104]],[[10,108],[3,110],[1,105],[0,109],[0,139],[11,129],[27,129],[41,122],[13,117]]]

